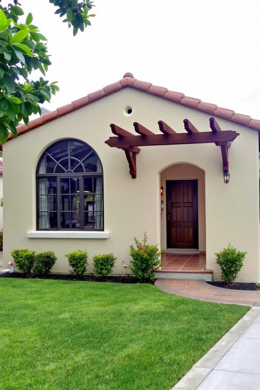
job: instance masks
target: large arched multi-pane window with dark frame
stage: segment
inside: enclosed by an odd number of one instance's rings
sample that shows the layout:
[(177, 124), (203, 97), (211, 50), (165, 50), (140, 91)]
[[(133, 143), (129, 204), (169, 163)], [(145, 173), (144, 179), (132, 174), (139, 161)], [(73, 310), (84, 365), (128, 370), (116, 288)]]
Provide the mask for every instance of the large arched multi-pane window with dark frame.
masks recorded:
[(36, 180), (38, 230), (104, 230), (103, 169), (90, 146), (55, 142), (42, 154)]

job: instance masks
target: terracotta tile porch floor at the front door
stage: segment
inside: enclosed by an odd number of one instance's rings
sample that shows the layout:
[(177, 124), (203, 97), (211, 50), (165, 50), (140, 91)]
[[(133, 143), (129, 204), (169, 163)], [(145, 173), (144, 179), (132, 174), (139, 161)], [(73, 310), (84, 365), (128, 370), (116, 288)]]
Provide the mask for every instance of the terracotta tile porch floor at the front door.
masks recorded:
[(163, 262), (159, 272), (193, 272), (206, 273), (206, 255), (205, 254), (173, 254), (163, 253), (161, 255)]

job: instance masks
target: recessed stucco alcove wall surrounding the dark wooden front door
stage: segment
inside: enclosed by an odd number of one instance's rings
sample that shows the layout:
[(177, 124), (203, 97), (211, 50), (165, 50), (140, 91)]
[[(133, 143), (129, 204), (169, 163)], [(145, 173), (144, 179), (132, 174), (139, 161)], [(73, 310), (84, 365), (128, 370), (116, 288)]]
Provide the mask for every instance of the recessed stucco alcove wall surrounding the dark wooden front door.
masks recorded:
[(199, 250), (206, 250), (206, 222), (205, 222), (205, 174), (195, 165), (175, 164), (161, 172), (161, 186), (163, 186), (163, 212), (161, 214), (161, 248), (167, 248), (166, 243), (166, 180), (198, 180), (198, 236)]

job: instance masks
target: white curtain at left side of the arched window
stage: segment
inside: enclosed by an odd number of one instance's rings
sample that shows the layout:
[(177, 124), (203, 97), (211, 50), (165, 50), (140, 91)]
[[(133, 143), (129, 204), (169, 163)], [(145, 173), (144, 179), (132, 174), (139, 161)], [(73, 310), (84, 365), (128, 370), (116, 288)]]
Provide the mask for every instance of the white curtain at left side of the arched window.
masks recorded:
[[(43, 158), (39, 173), (46, 173), (47, 158)], [(50, 229), (50, 222), (48, 218), (48, 179), (39, 179), (39, 229)], [(42, 195), (42, 196), (41, 196)]]

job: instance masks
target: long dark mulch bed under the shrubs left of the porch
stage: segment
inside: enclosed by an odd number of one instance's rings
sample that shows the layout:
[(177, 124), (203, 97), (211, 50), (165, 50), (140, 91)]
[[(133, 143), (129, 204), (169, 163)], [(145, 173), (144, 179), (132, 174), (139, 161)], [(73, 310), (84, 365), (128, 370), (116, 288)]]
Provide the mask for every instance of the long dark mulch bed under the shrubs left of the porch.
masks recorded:
[[(0, 278), (53, 279), (53, 280), (71, 280), (71, 281), (78, 281), (78, 282), (109, 282), (109, 283), (131, 283), (131, 284), (142, 283), (138, 279), (132, 277), (131, 275), (108, 276), (106, 278), (100, 278), (95, 275), (84, 275), (84, 277), (80, 279), (80, 278), (76, 278), (75, 275), (71, 275), (71, 274), (51, 273), (47, 277), (41, 277), (39, 275), (26, 276), (21, 272), (14, 272), (14, 273), (0, 274)], [(143, 283), (154, 284), (155, 281), (156, 279), (143, 282)]]

